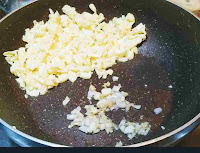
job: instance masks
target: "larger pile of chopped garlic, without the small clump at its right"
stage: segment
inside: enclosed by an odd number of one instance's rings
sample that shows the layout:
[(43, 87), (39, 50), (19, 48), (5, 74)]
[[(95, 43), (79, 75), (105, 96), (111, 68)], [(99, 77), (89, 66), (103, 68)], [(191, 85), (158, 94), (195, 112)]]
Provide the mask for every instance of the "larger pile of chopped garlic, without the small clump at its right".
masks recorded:
[[(120, 88), (121, 85), (119, 84), (112, 89), (105, 87), (101, 92), (97, 92), (96, 88), (93, 85), (90, 85), (87, 97), (89, 100), (94, 98), (98, 102), (96, 106), (85, 106), (86, 116), (80, 112), (80, 107), (77, 107), (71, 114), (68, 114), (67, 119), (72, 121), (69, 128), (79, 126), (79, 130), (82, 132), (92, 134), (102, 130), (105, 130), (107, 133), (113, 132), (114, 129), (118, 130), (118, 127), (105, 115), (105, 112), (114, 109), (125, 109), (126, 111), (129, 111), (130, 107), (134, 107), (134, 104), (125, 100), (128, 93), (123, 91), (120, 92)], [(136, 108), (138, 108), (138, 105), (136, 105)]]

